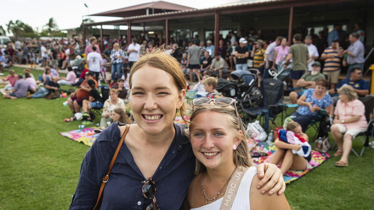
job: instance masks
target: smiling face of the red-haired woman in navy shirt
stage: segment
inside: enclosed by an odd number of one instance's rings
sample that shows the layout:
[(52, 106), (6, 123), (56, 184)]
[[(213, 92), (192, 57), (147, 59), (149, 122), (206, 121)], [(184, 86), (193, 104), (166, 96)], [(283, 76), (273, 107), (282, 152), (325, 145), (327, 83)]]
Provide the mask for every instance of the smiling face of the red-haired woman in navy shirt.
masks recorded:
[(132, 76), (130, 105), (135, 122), (148, 134), (173, 128), (175, 112), (181, 108), (185, 90), (178, 91), (166, 71), (144, 65)]

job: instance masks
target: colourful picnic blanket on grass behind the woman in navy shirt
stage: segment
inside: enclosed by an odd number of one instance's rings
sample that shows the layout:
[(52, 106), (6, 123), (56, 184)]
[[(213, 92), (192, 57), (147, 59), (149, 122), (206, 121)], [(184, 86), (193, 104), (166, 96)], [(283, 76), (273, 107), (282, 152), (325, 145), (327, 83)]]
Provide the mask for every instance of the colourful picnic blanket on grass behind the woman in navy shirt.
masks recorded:
[[(186, 118), (186, 120), (189, 120), (187, 116), (184, 117)], [(174, 123), (179, 124), (181, 126), (186, 126), (181, 117), (176, 117)], [(72, 130), (68, 132), (61, 132), (60, 135), (72, 139), (76, 142), (82, 142), (85, 145), (91, 146), (92, 143), (95, 141), (96, 137), (99, 135), (98, 133), (93, 132), (93, 129), (95, 128), (96, 127), (89, 127), (78, 130)]]

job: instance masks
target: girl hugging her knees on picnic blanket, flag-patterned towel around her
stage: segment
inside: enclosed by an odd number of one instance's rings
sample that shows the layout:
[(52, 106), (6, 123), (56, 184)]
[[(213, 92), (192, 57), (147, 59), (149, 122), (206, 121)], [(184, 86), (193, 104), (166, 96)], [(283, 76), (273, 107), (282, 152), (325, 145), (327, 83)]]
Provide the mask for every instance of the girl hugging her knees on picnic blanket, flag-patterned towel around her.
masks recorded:
[[(287, 131), (294, 132), (295, 136), (303, 138), (306, 142), (309, 141), (308, 135), (303, 133), (300, 124), (295, 121), (291, 121), (287, 124)], [(274, 145), (278, 147), (277, 151), (272, 155), (270, 163), (281, 165), (281, 172), (284, 175), (288, 169), (292, 170), (305, 170), (309, 166), (309, 161), (312, 159), (312, 155), (309, 152), (307, 157), (303, 157), (299, 154), (294, 154), (293, 151), (300, 151), (300, 144), (286, 143), (279, 138), (274, 141)]]

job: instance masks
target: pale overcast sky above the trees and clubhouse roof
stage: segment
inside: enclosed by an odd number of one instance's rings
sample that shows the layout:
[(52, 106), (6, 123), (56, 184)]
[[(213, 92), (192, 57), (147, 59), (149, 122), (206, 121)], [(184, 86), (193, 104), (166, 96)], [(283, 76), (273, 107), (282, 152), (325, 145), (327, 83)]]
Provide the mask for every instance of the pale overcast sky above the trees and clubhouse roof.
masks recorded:
[[(177, 0), (164, 1), (203, 9), (238, 0), (186, 0), (183, 3)], [(149, 2), (152, 0), (2, 0), (0, 25), (7, 30), (6, 24), (10, 20), (13, 22), (20, 20), (33, 27), (34, 30), (38, 28), (40, 31), (49, 18), (53, 17), (60, 29), (76, 28), (82, 23), (82, 16), (88, 14), (84, 3), (88, 5), (89, 13), (95, 14)], [(120, 19), (101, 16), (90, 16), (90, 18), (95, 22)]]

